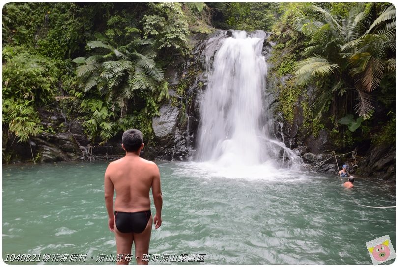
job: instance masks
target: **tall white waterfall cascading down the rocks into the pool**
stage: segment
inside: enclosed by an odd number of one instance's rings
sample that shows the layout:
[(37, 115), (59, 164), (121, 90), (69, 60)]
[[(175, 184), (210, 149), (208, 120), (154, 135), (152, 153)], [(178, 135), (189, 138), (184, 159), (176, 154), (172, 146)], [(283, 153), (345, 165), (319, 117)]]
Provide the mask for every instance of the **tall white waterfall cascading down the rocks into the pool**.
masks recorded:
[(222, 39), (212, 66), (206, 64), (209, 81), (200, 104), (198, 161), (222, 167), (278, 167), (277, 159), (299, 158), (270, 138), (270, 123), (264, 122), (272, 116), (263, 101), (267, 76), (263, 42), (245, 31), (233, 31), (232, 37)]

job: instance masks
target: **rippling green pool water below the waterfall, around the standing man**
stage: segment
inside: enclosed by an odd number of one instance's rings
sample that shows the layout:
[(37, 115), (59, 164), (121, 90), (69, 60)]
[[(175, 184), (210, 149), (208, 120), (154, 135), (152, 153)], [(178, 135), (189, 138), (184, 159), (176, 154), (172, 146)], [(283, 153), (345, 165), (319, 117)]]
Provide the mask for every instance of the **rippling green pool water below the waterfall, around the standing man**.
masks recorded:
[[(107, 164), (78, 166), (3, 167), (10, 174), (3, 175), (3, 256), (116, 253), (98, 179)], [(395, 240), (395, 209), (353, 201), (392, 206), (395, 193), (364, 179), (345, 190), (328, 175), (278, 170), (232, 179), (202, 167), (160, 165), (163, 223), (153, 228), (150, 253), (204, 253), (205, 264), (371, 264), (365, 242)]]

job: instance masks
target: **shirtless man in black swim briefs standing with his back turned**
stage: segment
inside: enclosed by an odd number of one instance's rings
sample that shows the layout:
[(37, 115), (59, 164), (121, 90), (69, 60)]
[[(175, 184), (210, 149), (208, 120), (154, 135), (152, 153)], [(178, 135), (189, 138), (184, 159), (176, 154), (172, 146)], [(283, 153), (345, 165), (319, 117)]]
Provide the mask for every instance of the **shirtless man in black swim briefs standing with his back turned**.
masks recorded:
[[(137, 264), (148, 254), (152, 221), (155, 229), (162, 224), (162, 191), (158, 166), (152, 161), (141, 158), (144, 147), (142, 133), (130, 129), (123, 133), (122, 148), (126, 155), (109, 164), (105, 172), (105, 206), (108, 212), (109, 229), (115, 233), (117, 254), (123, 254), (123, 260), (117, 264), (129, 264), (131, 247), (135, 244)], [(156, 215), (152, 218), (149, 190), (152, 188)], [(113, 207), (114, 190), (116, 200)]]

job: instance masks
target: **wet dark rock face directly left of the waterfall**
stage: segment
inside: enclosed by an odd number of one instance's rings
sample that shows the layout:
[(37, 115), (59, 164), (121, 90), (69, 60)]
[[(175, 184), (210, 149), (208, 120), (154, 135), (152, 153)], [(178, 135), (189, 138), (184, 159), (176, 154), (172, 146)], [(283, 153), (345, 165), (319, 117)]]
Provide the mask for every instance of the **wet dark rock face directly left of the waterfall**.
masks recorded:
[(228, 37), (227, 30), (218, 30), (210, 37), (194, 35), (191, 39), (195, 44), (193, 57), (166, 71), (169, 84), (176, 90), (169, 91), (173, 101), (162, 106), (160, 116), (152, 119), (155, 140), (146, 156), (166, 160), (186, 160), (195, 156), (200, 101), (208, 84), (206, 70), (221, 40)]

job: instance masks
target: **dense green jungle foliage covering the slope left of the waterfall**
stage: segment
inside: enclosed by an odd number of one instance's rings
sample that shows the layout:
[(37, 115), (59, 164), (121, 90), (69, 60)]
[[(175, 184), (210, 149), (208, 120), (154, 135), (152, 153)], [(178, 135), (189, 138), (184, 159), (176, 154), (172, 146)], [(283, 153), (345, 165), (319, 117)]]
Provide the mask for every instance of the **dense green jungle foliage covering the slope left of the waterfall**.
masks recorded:
[(80, 103), (75, 113), (93, 142), (127, 127), (150, 138), (150, 120), (168, 98), (164, 66), (189, 54), (184, 10), (179, 3), (5, 4), (3, 142), (39, 134), (37, 110), (54, 108), (57, 96)]

